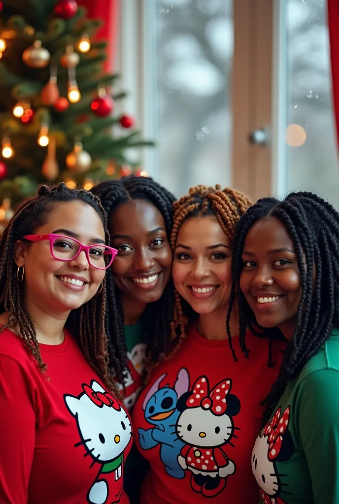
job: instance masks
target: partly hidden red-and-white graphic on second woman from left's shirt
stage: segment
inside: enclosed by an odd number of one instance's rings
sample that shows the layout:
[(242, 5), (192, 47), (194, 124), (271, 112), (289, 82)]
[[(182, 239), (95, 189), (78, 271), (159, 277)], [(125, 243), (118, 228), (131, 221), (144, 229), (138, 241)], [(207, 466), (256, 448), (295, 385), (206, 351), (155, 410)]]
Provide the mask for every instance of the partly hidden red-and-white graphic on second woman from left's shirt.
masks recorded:
[[(134, 406), (142, 390), (142, 373), (146, 363), (146, 345), (138, 343), (127, 352), (127, 369), (124, 372), (125, 399), (127, 410)], [(123, 385), (117, 382), (118, 389), (123, 391)]]

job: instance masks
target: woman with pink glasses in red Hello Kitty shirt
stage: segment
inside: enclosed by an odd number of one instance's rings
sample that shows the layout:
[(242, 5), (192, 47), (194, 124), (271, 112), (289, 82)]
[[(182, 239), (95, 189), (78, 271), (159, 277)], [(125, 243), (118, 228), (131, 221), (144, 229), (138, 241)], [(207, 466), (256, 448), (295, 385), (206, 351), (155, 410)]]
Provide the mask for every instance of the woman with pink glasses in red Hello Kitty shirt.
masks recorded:
[(130, 418), (108, 371), (105, 212), (41, 186), (0, 240), (0, 502), (128, 503)]

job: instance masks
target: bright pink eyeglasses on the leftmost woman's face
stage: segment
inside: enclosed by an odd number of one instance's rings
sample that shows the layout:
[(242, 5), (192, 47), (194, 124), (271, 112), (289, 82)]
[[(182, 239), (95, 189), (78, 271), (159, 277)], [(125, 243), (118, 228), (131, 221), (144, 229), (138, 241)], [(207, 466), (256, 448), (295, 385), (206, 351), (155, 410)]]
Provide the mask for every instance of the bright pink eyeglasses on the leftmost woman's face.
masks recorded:
[(50, 253), (59, 261), (72, 261), (85, 250), (87, 261), (97, 270), (106, 270), (112, 264), (118, 254), (116, 248), (98, 243), (95, 245), (83, 245), (80, 241), (63, 236), (61, 234), (26, 234), (25, 240), (42, 241), (49, 240)]

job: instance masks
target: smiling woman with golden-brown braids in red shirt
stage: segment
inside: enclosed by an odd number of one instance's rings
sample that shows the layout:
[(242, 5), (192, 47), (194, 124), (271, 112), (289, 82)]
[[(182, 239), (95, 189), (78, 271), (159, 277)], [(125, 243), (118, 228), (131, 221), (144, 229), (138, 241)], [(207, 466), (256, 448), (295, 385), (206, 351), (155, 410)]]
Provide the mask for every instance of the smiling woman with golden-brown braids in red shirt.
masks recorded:
[(246, 195), (219, 186), (192, 187), (174, 204), (176, 311), (187, 313), (189, 325), (174, 321), (180, 338), (133, 412), (137, 446), (151, 466), (142, 504), (257, 500), (251, 450), (282, 345), (248, 333), (247, 358), (238, 348), (237, 313), (230, 338), (226, 331), (235, 230), (250, 205)]

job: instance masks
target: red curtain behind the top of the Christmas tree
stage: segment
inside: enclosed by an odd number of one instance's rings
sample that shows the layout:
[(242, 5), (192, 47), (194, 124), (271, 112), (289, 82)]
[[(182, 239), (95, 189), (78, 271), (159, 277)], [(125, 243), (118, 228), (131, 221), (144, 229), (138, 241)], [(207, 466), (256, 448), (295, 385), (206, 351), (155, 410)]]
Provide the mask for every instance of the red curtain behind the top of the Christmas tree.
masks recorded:
[(78, 5), (86, 7), (90, 19), (100, 18), (104, 20), (104, 24), (97, 31), (95, 38), (107, 41), (105, 70), (112, 72), (115, 66), (117, 47), (119, 0), (78, 0)]

